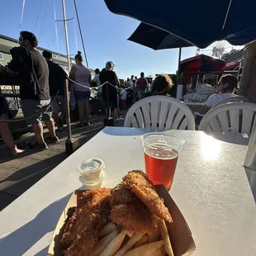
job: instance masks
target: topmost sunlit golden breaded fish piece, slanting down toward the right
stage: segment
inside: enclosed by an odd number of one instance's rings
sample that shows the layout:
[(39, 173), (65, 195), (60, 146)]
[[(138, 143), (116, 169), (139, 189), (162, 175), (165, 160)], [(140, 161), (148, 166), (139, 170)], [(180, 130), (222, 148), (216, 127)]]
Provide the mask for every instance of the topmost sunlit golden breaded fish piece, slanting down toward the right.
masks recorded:
[(149, 211), (159, 218), (172, 222), (172, 216), (168, 212), (168, 208), (164, 206), (164, 201), (159, 197), (153, 183), (147, 175), (141, 171), (132, 171), (123, 178), (122, 184), (135, 193), (141, 201), (148, 206)]

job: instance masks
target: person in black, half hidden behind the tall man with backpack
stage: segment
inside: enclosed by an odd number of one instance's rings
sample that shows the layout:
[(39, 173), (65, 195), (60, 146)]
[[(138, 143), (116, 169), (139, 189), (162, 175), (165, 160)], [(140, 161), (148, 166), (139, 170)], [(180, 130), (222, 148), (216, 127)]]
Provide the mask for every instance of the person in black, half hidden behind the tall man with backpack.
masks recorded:
[(64, 86), (66, 83), (67, 74), (58, 64), (52, 62), (52, 54), (49, 50), (44, 50), (43, 56), (45, 57), (49, 68), (49, 88), (52, 101), (50, 104), (51, 111), (58, 130), (63, 130), (63, 123), (59, 122), (59, 112), (61, 112), (61, 117), (65, 121), (66, 109), (64, 100)]

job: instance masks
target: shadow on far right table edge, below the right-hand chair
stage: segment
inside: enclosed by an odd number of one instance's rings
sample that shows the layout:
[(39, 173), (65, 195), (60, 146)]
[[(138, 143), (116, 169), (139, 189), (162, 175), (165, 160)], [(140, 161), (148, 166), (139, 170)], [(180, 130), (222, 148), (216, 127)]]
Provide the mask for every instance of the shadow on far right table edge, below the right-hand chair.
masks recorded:
[(204, 132), (206, 135), (211, 135), (211, 137), (216, 140), (222, 140), (228, 143), (237, 144), (237, 145), (248, 145), (249, 137), (248, 135), (242, 135), (239, 133), (231, 133), (231, 132)]

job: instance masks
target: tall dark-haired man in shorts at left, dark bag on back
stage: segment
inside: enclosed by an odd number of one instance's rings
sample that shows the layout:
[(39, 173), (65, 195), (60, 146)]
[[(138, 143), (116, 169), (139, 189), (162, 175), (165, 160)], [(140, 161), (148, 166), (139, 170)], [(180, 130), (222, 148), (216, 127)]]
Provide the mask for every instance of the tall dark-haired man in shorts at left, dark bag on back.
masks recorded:
[(20, 82), (21, 108), (27, 121), (36, 135), (36, 144), (30, 149), (47, 149), (44, 140), (41, 119), (45, 121), (50, 132), (49, 140), (57, 142), (55, 125), (45, 106), (50, 104), (49, 69), (45, 58), (36, 50), (38, 45), (36, 36), (28, 31), (21, 31), (19, 44), (11, 50), (12, 60), (7, 64), (8, 73), (17, 73)]

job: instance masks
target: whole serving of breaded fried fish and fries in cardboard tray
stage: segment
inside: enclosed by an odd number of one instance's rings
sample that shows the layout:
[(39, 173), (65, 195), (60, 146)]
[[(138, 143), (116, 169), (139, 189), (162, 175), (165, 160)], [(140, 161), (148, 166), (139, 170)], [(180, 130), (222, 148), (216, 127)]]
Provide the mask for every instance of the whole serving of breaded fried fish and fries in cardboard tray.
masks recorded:
[(168, 208), (141, 171), (113, 189), (83, 192), (64, 226), (64, 256), (164, 256), (173, 254), (165, 221)]

